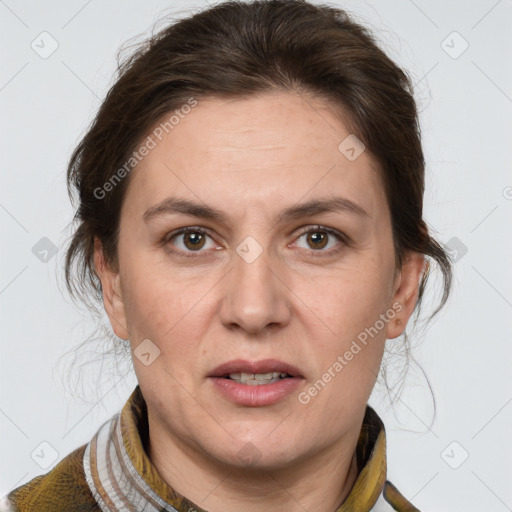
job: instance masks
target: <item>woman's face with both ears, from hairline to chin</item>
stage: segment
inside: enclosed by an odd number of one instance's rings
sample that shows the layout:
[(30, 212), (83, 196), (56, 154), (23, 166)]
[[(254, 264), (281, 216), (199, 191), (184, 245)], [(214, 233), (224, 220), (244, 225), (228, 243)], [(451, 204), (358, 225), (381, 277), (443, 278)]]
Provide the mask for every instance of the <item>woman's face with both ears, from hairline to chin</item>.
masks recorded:
[(201, 100), (156, 142), (102, 273), (152, 439), (267, 469), (354, 443), (422, 270), (395, 268), (376, 161), (285, 92)]

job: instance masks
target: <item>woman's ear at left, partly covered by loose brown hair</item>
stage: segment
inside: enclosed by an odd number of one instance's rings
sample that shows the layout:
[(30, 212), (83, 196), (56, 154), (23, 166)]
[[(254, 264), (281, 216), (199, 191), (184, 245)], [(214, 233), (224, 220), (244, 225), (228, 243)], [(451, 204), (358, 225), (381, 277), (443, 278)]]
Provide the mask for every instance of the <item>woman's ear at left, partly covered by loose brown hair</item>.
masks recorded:
[(110, 325), (119, 338), (127, 340), (129, 336), (119, 272), (114, 272), (105, 262), (103, 246), (97, 237), (94, 237), (94, 267), (101, 281), (103, 305)]

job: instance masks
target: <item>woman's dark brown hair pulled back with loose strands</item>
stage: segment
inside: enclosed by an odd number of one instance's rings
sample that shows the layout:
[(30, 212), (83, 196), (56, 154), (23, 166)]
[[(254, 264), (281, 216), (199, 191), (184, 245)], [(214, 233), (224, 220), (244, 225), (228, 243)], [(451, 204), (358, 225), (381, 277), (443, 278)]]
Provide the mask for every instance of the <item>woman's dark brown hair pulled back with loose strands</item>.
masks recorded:
[[(130, 175), (98, 190), (130, 160), (164, 114), (206, 97), (247, 97), (271, 90), (308, 92), (343, 114), (382, 168), (396, 262), (407, 251), (435, 261), (448, 298), (451, 262), (422, 217), (425, 162), (412, 85), (367, 29), (341, 9), (304, 0), (228, 1), (170, 24), (129, 58), (76, 147), (68, 192), (79, 196), (78, 222), (66, 253), (72, 296), (101, 299), (94, 238), (117, 268), (120, 211)], [(96, 191), (96, 192), (95, 192)], [(427, 260), (429, 260), (427, 258)], [(73, 264), (77, 272), (73, 272)], [(417, 310), (429, 272), (420, 284)], [(417, 311), (417, 313), (418, 313)]]

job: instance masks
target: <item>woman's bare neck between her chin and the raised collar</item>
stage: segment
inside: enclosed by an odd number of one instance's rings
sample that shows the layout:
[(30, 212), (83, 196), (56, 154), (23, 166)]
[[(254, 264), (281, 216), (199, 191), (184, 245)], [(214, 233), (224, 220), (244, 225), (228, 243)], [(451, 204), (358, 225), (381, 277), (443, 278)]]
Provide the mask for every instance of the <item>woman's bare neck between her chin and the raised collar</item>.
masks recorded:
[(247, 470), (214, 461), (151, 426), (148, 454), (163, 480), (209, 512), (259, 512), (262, 499), (266, 512), (335, 512), (359, 473), (358, 435), (285, 468)]

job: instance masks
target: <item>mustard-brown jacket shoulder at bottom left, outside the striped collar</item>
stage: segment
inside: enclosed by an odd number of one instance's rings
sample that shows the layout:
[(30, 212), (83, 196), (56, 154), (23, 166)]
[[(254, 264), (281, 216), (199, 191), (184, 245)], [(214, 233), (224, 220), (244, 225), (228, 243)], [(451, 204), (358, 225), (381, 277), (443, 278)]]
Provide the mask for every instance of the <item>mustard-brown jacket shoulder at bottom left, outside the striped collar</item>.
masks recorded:
[(83, 470), (83, 445), (64, 457), (49, 473), (14, 489), (0, 512), (100, 512)]

